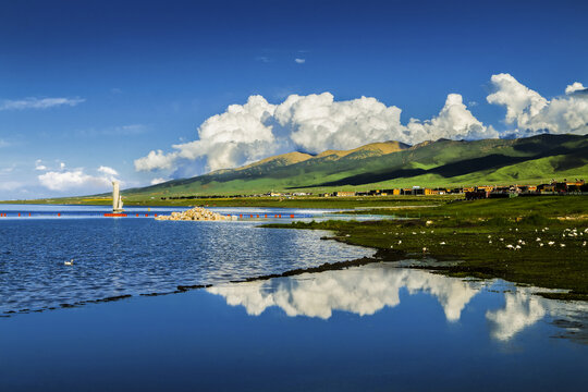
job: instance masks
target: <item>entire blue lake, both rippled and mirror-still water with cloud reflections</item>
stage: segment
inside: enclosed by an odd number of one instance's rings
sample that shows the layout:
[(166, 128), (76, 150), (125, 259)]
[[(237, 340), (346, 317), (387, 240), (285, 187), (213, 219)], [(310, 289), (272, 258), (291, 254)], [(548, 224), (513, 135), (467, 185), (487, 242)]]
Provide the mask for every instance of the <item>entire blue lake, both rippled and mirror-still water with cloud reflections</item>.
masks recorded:
[[(0, 221), (1, 391), (583, 390), (588, 306), (255, 222)], [(63, 259), (74, 257), (74, 266)], [(70, 268), (68, 268), (70, 267)], [(157, 296), (180, 284), (207, 289)], [(9, 286), (10, 289), (7, 289)], [(84, 298), (132, 294), (61, 308)], [(54, 310), (48, 308), (57, 307)]]

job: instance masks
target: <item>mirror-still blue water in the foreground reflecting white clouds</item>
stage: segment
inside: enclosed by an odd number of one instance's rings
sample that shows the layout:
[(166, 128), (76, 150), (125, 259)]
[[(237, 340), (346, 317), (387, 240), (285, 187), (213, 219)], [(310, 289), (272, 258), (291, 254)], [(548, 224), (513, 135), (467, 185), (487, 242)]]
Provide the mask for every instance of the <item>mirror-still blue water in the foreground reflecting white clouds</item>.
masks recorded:
[(532, 293), (376, 264), (17, 315), (0, 390), (585, 390), (587, 305)]

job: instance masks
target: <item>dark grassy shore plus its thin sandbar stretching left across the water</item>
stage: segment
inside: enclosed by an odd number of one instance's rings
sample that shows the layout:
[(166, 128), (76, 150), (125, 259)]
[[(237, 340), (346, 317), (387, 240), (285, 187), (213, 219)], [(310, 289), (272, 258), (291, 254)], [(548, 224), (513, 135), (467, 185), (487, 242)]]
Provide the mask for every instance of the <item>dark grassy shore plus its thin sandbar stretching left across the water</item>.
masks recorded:
[[(544, 293), (541, 295), (554, 299), (588, 301), (588, 264), (585, 262), (588, 248), (580, 245), (583, 240), (588, 240), (588, 232), (584, 232), (584, 228), (588, 225), (588, 222), (583, 219), (563, 222), (555, 219), (562, 212), (581, 212), (585, 210), (584, 206), (588, 198), (576, 197), (569, 200), (575, 200), (576, 204), (572, 206), (568, 204), (563, 206), (561, 204), (554, 205), (553, 203), (538, 205), (538, 201), (543, 203), (543, 200), (529, 200), (531, 204), (527, 205), (527, 210), (520, 210), (520, 203), (528, 204), (527, 200), (464, 201), (436, 206), (434, 208), (424, 206), (425, 208), (419, 211), (419, 213), (422, 213), (422, 218), (415, 218), (409, 221), (370, 220), (358, 222), (334, 220), (313, 221), (309, 223), (262, 223), (256, 225), (256, 228), (327, 230), (333, 234), (321, 240), (333, 240), (347, 245), (363, 246), (373, 249), (376, 253), (371, 257), (323, 264), (305, 269), (298, 268), (282, 273), (249, 277), (229, 282), (240, 283), (284, 278), (306, 272), (338, 270), (381, 261), (414, 260), (414, 262), (399, 265), (399, 267), (426, 269), (433, 273), (442, 273), (454, 278), (499, 278), (516, 284), (566, 290), (567, 293)], [(550, 200), (546, 199), (546, 201)], [(415, 206), (411, 207), (414, 208)], [(505, 218), (505, 215), (512, 213), (513, 210), (516, 210), (520, 217), (516, 217), (516, 219), (512, 217)], [(473, 211), (476, 215), (473, 215)], [(546, 215), (538, 216), (540, 212)], [(543, 229), (541, 228), (544, 225), (549, 225), (551, 232), (542, 232)], [(561, 231), (563, 230), (565, 234), (566, 230), (571, 230), (572, 226), (580, 228), (579, 234), (581, 234), (581, 237), (577, 236), (577, 240), (565, 237), (565, 240), (562, 240)], [(558, 231), (560, 232), (559, 240), (553, 236)], [(555, 246), (548, 246), (548, 233), (553, 240), (558, 241)], [(492, 237), (494, 244), (489, 245), (492, 241), (488, 241), (487, 236), (488, 238)], [(505, 241), (499, 243), (499, 236), (504, 236)], [(536, 236), (543, 238), (542, 241), (546, 242), (544, 247), (537, 246), (538, 243), (534, 241)], [(507, 243), (516, 244), (515, 238), (520, 237), (524, 237), (528, 244), (524, 245), (519, 252), (504, 249), (504, 245)], [(502, 241), (502, 238), (500, 240)], [(402, 245), (400, 245), (399, 241)], [(446, 245), (445, 241), (448, 242)], [(560, 248), (558, 246), (560, 242), (567, 242), (567, 247), (562, 246)], [(440, 244), (443, 244), (443, 246)], [(562, 249), (565, 249), (565, 252)], [(419, 259), (425, 262), (419, 262)], [(60, 304), (40, 309), (8, 310), (0, 314), (0, 317), (120, 301), (132, 296), (168, 295), (210, 286), (211, 284), (177, 285), (175, 290), (162, 293), (124, 294), (72, 304)]]

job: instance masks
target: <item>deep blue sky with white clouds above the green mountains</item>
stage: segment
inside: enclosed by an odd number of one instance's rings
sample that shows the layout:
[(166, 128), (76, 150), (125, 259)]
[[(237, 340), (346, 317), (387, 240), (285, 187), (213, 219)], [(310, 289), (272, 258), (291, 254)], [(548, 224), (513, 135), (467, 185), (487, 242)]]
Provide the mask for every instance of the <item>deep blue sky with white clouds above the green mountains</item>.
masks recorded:
[[(537, 121), (505, 121), (506, 110), (535, 99), (519, 86), (551, 100), (575, 82), (588, 84), (587, 14), (583, 1), (4, 2), (0, 198), (105, 191), (105, 179), (113, 175), (137, 186), (293, 149), (348, 147), (343, 139), (394, 136), (411, 118), (424, 124), (420, 136), (405, 132), (408, 142), (418, 142), (437, 135), (429, 127), (446, 124), (440, 111), (453, 110), (450, 100), (463, 101), (474, 118), (453, 114), (452, 130), (455, 115), (468, 117), (473, 126), (455, 131), (456, 137), (538, 132)], [(514, 82), (491, 82), (499, 74)], [(523, 91), (520, 101), (488, 102), (497, 89), (511, 87)], [(240, 130), (241, 136), (225, 135), (242, 137), (237, 142), (219, 138), (218, 130), (226, 126), (222, 118), (210, 124), (210, 143), (172, 147), (199, 140), (197, 130), (207, 119), (245, 105), (249, 96), (278, 106), (292, 94), (323, 93), (335, 103), (352, 102), (354, 119), (369, 120), (380, 110), (368, 102), (376, 109), (362, 114), (353, 100), (363, 96), (397, 107), (401, 124), (354, 138), (348, 121), (317, 128), (307, 112), (289, 107), (287, 119), (262, 120), (259, 126), (273, 122), (270, 135), (250, 136), (267, 131), (254, 124)], [(309, 106), (331, 114), (347, 110), (322, 98)], [(267, 109), (264, 102), (255, 107)], [(581, 108), (569, 102), (566, 110), (583, 117)], [(394, 115), (382, 121), (393, 122)], [(552, 131), (549, 124), (543, 131)], [(586, 133), (566, 126), (554, 124), (552, 132)], [(313, 145), (320, 132), (329, 137), (321, 134)], [(163, 163), (137, 170), (137, 159), (160, 149)]]

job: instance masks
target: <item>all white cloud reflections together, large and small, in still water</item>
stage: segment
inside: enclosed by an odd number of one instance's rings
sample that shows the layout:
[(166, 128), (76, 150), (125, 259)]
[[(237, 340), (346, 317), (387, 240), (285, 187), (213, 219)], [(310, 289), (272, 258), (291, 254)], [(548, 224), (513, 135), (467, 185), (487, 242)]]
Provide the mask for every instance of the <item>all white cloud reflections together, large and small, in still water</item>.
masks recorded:
[[(495, 290), (499, 286), (501, 290)], [(430, 294), (442, 306), (449, 322), (458, 321), (462, 313), (478, 294), (502, 299), (488, 309), (490, 335), (509, 341), (520, 331), (549, 318), (566, 329), (566, 336), (585, 331), (588, 305), (547, 299), (535, 295), (537, 289), (516, 287), (502, 281), (475, 281), (448, 278), (424, 270), (395, 268), (391, 264), (369, 265), (348, 270), (304, 273), (294, 278), (219, 285), (207, 289), (221, 295), (232, 306), (243, 306), (250, 316), (269, 307), (279, 307), (287, 316), (329, 319), (333, 311), (359, 316), (373, 315), (401, 303), (401, 291), (409, 295)], [(492, 302), (490, 302), (492, 303)], [(563, 322), (565, 321), (565, 322)]]

